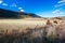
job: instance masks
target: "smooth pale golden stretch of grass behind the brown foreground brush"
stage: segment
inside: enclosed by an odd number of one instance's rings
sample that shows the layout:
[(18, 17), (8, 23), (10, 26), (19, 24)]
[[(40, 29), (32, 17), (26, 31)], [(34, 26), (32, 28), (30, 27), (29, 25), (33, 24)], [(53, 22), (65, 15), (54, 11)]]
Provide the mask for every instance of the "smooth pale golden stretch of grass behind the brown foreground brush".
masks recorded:
[(0, 27), (9, 29), (9, 27), (15, 29), (35, 28), (37, 26), (42, 27), (46, 25), (46, 19), (0, 19)]

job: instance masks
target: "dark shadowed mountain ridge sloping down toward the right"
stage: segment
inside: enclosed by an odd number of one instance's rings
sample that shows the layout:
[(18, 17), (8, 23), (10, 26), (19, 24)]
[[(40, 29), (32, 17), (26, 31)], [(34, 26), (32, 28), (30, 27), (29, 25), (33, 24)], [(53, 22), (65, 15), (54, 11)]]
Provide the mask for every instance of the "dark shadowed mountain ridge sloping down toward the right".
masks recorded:
[(0, 18), (24, 18), (24, 17), (40, 17), (32, 13), (15, 12), (0, 9)]

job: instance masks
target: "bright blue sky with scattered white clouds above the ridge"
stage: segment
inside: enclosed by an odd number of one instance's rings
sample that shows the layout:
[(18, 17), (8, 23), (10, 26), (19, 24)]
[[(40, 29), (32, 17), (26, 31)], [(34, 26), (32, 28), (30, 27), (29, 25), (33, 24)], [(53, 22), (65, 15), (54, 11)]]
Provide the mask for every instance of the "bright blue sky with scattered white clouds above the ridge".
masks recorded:
[(65, 16), (65, 0), (0, 0), (0, 8), (42, 17)]

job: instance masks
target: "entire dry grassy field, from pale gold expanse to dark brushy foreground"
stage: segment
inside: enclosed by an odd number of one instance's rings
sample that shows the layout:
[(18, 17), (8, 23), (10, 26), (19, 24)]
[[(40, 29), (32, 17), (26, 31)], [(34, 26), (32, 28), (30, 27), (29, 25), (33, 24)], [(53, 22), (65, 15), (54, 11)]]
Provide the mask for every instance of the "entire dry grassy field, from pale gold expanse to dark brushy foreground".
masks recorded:
[(65, 43), (65, 20), (0, 19), (0, 43)]

